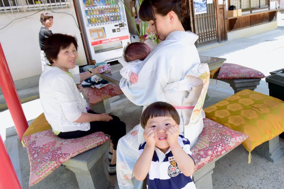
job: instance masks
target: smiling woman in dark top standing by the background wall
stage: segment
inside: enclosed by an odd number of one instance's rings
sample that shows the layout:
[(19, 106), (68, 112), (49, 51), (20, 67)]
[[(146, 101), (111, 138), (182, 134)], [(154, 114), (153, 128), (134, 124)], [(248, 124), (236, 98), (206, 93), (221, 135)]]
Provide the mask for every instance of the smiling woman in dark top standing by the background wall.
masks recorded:
[(45, 57), (43, 46), (44, 46), (45, 39), (48, 38), (52, 34), (52, 31), (49, 30), (49, 28), (53, 25), (53, 16), (47, 12), (41, 13), (39, 21), (42, 23), (42, 26), (40, 27), (40, 30), (39, 30), (38, 37), (39, 37), (39, 47), (41, 50), (40, 51), (41, 67), (43, 71), (44, 66), (49, 64), (48, 60)]

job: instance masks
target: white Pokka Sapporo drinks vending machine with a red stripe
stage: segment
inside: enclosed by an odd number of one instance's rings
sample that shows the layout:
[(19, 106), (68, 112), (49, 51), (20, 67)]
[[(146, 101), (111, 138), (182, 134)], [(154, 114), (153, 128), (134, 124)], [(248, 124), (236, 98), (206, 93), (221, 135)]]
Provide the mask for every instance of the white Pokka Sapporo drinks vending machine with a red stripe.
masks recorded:
[[(118, 60), (130, 43), (126, 12), (121, 0), (76, 0), (91, 60)], [(79, 8), (78, 8), (79, 9)]]

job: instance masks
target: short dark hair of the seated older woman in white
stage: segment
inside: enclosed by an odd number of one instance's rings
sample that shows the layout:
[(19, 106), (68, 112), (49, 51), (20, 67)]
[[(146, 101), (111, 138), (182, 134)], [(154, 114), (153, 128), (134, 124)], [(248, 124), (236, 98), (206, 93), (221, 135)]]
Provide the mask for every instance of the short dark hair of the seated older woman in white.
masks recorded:
[(56, 60), (58, 53), (62, 49), (68, 48), (71, 44), (74, 44), (76, 50), (78, 48), (77, 39), (72, 35), (55, 33), (50, 35), (44, 42), (43, 51), (49, 63), (53, 63), (52, 60)]

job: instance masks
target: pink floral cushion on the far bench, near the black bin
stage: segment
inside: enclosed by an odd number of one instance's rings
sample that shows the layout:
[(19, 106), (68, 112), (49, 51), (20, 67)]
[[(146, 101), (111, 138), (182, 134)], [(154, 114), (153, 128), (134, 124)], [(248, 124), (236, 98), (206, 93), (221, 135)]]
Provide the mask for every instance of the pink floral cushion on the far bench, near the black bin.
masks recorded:
[(220, 68), (217, 79), (248, 79), (248, 78), (265, 78), (264, 74), (258, 70), (248, 68), (245, 66), (224, 63)]

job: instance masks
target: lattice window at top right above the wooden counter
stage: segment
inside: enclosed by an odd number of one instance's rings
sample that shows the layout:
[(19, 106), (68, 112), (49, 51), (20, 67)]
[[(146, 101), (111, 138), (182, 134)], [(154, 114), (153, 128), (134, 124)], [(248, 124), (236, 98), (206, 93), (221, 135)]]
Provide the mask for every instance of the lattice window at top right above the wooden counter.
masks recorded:
[(229, 5), (235, 5), (237, 9), (254, 9), (268, 7), (267, 0), (229, 0)]

